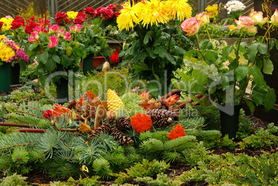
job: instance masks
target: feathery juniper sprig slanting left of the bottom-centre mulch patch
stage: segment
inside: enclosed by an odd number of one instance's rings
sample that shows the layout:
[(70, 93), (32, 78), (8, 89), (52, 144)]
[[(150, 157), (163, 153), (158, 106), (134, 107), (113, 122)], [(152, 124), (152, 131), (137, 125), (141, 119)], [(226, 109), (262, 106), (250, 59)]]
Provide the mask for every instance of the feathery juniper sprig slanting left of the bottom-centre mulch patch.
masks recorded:
[(129, 179), (160, 174), (168, 168), (169, 164), (163, 161), (154, 160), (149, 162), (148, 160), (143, 159), (141, 163), (136, 163), (133, 167), (125, 169), (127, 173), (120, 172), (119, 174), (113, 174), (113, 176), (118, 177), (115, 180), (115, 183), (122, 184)]

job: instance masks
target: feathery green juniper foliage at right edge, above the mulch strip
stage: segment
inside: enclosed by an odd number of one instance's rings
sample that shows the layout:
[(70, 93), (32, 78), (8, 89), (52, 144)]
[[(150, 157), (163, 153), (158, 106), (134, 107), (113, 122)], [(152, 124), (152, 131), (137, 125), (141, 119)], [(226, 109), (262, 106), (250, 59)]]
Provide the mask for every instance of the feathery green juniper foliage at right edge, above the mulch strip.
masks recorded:
[(244, 149), (245, 147), (272, 148), (272, 145), (278, 145), (277, 136), (272, 134), (276, 133), (277, 129), (278, 127), (274, 126), (273, 123), (269, 124), (268, 129), (266, 130), (260, 128), (257, 131), (255, 131), (254, 134), (252, 134), (251, 136), (243, 138), (243, 141), (239, 142), (239, 147), (241, 147), (242, 149)]

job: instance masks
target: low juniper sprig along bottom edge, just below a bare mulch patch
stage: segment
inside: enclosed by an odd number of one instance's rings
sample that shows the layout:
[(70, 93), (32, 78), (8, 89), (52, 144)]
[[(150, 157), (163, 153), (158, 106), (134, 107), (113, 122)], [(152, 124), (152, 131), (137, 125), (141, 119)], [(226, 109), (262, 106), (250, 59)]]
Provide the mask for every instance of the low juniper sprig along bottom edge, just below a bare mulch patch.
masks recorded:
[(176, 179), (176, 178), (167, 178), (167, 174), (160, 173), (157, 175), (156, 180), (153, 178), (146, 176), (142, 178), (136, 178), (134, 179), (136, 181), (147, 183), (148, 185), (154, 185), (154, 186), (180, 186), (183, 184), (182, 181)]

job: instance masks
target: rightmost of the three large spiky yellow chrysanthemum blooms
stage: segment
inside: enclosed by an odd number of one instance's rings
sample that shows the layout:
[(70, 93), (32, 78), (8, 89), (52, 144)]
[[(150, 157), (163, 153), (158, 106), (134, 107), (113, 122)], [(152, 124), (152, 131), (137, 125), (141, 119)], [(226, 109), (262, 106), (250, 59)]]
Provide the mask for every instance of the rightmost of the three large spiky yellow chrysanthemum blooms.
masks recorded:
[(177, 19), (184, 20), (192, 16), (192, 8), (187, 0), (168, 0), (164, 2), (171, 19), (177, 17)]

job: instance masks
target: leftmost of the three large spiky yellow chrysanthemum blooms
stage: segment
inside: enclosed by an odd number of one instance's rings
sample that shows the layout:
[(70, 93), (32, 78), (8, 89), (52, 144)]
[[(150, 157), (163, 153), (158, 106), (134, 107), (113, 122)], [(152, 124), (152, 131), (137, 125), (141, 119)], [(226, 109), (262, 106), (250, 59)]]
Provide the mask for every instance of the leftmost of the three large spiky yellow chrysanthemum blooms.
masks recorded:
[(117, 18), (117, 24), (119, 30), (133, 30), (134, 24), (138, 23), (138, 18), (136, 17), (136, 12), (134, 12), (134, 6), (131, 7), (131, 3), (125, 2), (123, 9), (120, 10), (120, 15)]

